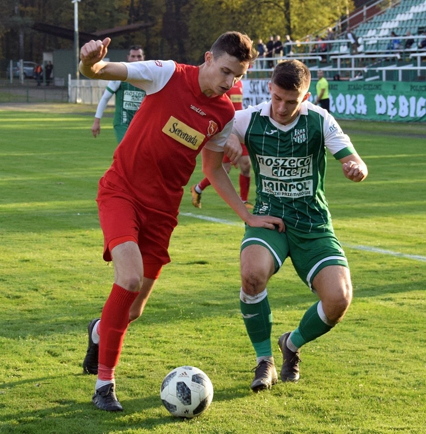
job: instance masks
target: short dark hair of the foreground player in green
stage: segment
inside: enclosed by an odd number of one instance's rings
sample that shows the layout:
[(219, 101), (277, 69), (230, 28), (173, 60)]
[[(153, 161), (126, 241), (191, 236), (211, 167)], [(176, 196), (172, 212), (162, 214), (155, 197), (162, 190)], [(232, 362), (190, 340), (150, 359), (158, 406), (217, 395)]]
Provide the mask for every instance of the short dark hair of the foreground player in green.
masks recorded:
[(309, 89), (310, 71), (302, 62), (291, 59), (278, 63), (272, 72), (270, 82), (286, 91)]

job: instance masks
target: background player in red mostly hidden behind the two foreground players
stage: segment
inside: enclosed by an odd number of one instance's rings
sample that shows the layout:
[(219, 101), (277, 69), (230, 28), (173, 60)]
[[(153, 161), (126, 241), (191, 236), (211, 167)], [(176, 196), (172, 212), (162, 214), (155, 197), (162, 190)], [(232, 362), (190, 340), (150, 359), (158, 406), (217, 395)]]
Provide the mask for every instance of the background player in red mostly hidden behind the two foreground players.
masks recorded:
[[(227, 92), (226, 95), (231, 100), (235, 110), (242, 110), (242, 82), (236, 82)], [(247, 148), (241, 143), (242, 155), (238, 159), (236, 165), (239, 167), (239, 197), (244, 202), (247, 209), (253, 209), (253, 204), (248, 201), (248, 191), (250, 189), (250, 157), (248, 156)], [(229, 158), (224, 155), (222, 161), (223, 167), (227, 173), (231, 169)], [(195, 208), (201, 208), (201, 193), (210, 185), (207, 177), (203, 178), (198, 184), (191, 186), (192, 205)]]

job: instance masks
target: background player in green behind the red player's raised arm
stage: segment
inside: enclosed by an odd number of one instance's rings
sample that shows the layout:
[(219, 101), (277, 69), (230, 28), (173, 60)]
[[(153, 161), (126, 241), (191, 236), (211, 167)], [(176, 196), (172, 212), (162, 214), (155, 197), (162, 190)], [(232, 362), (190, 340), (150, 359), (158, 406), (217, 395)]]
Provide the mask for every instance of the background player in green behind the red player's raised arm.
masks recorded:
[[(139, 62), (144, 59), (145, 57), (141, 47), (137, 45), (130, 47), (127, 62)], [(136, 110), (139, 108), (145, 96), (145, 91), (137, 89), (126, 82), (120, 82), (118, 80), (109, 81), (94, 115), (93, 125), (91, 126), (93, 137), (96, 137), (100, 133), (100, 119), (102, 118), (103, 111), (106, 109), (108, 101), (114, 94), (115, 112), (113, 126), (117, 143), (120, 143), (127, 131), (130, 121), (133, 119)]]

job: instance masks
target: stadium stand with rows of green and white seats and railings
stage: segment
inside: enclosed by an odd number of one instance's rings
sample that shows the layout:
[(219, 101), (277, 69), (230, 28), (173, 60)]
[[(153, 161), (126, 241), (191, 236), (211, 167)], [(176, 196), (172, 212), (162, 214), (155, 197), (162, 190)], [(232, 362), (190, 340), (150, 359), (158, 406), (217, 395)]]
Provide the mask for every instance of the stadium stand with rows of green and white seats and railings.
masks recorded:
[[(334, 28), (340, 29), (340, 33), (333, 41), (324, 40), (324, 29), (318, 32), (323, 38), (321, 43), (327, 45), (326, 52), (315, 51), (318, 41), (306, 38), (292, 42), (290, 53), (282, 59), (296, 58), (312, 71), (322, 69), (327, 79), (338, 75), (340, 80), (350, 81), (426, 80), (426, 47), (418, 47), (426, 38), (426, 0), (393, 1), (386, 8), (381, 1), (371, 2)], [(357, 37), (356, 46), (347, 39), (349, 29)], [(406, 36), (408, 31), (411, 36)], [(399, 40), (399, 46), (392, 46), (394, 39)], [(407, 39), (414, 40), (410, 48), (405, 48)], [(262, 77), (270, 71), (255, 65), (250, 75)]]

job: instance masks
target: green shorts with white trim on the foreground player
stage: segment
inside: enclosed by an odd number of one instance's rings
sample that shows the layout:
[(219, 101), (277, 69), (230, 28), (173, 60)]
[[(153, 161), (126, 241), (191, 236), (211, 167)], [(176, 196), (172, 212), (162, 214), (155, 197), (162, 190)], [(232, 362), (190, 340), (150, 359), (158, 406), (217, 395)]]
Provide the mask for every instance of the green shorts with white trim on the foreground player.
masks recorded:
[(343, 249), (332, 231), (306, 234), (286, 227), (285, 232), (279, 233), (276, 229), (245, 225), (241, 251), (251, 244), (258, 244), (269, 250), (275, 263), (275, 273), (289, 256), (300, 279), (311, 290), (312, 280), (322, 268), (328, 265), (343, 265), (349, 268)]

